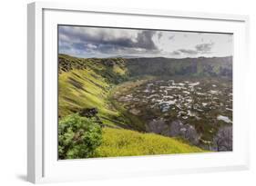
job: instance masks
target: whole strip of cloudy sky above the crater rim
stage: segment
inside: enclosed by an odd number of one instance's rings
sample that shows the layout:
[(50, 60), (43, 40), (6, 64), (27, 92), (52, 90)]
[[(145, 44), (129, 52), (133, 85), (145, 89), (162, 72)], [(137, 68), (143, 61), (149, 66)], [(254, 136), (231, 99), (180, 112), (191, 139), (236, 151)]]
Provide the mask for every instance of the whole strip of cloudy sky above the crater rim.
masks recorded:
[(59, 54), (85, 58), (229, 56), (232, 45), (232, 34), (58, 26)]

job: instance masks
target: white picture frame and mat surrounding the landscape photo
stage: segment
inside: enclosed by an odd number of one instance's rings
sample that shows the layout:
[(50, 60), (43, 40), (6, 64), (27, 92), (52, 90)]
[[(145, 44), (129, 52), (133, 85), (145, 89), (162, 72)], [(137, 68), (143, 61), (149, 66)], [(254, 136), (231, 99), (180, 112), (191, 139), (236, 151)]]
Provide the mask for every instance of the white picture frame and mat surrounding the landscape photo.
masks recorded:
[[(175, 30), (234, 34), (233, 152), (57, 161), (56, 25), (90, 24), (169, 29), (167, 23), (171, 23)], [(243, 84), (247, 78), (246, 67), (249, 65), (248, 26), (249, 17), (246, 15), (88, 7), (86, 4), (67, 3), (29, 4), (27, 8), (27, 180), (34, 183), (83, 181), (249, 169), (249, 121), (245, 117), (248, 103), (242, 102), (241, 99), (247, 96), (243, 91)], [(241, 61), (243, 63), (239, 63)]]

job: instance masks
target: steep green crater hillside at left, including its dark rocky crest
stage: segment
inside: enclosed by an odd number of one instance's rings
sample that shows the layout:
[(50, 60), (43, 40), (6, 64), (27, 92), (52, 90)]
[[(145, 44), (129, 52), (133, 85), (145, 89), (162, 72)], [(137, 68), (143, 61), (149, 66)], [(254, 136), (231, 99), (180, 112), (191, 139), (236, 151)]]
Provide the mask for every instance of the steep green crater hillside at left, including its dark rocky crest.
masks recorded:
[[(126, 79), (121, 64), (102, 64), (97, 60), (59, 55), (58, 117), (81, 109), (97, 108), (98, 116), (108, 126), (123, 125), (126, 120), (108, 101), (109, 90)], [(118, 125), (117, 125), (118, 124)]]

